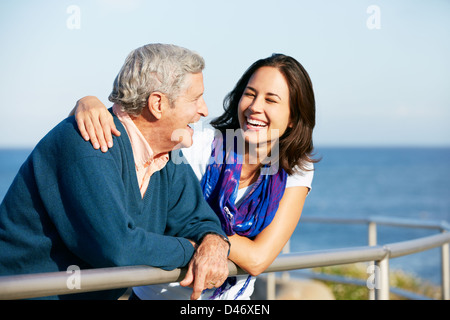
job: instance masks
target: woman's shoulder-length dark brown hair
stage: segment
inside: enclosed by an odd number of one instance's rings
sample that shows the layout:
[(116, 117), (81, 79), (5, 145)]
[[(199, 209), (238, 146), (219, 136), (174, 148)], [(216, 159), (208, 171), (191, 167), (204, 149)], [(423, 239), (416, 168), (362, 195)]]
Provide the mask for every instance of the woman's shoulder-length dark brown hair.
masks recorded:
[(312, 158), (312, 134), (316, 123), (316, 104), (314, 91), (308, 73), (294, 58), (273, 54), (253, 63), (239, 79), (234, 89), (225, 97), (223, 107), (225, 112), (213, 119), (211, 125), (222, 133), (226, 129), (240, 128), (238, 105), (251, 76), (261, 67), (277, 68), (285, 77), (289, 87), (289, 107), (292, 128), (287, 128), (280, 137), (280, 166), (287, 174), (294, 173), (295, 166), (300, 170), (308, 170), (308, 163), (318, 160)]

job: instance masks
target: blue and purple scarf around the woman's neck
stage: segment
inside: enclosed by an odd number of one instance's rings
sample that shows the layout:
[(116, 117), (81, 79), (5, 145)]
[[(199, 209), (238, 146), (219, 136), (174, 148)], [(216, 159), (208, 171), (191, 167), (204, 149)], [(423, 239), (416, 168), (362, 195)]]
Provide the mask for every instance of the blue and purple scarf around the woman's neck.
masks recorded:
[[(236, 147), (227, 148), (225, 140), (216, 137), (213, 141), (210, 164), (201, 180), (203, 196), (219, 217), (227, 235), (254, 238), (272, 222), (286, 188), (287, 174), (282, 168), (273, 174), (260, 174), (240, 205), (236, 206), (243, 158), (236, 152)], [(230, 281), (216, 289), (213, 297), (226, 290), (227, 285), (233, 285), (233, 279), (228, 279)], [(249, 280), (250, 276), (243, 289)]]

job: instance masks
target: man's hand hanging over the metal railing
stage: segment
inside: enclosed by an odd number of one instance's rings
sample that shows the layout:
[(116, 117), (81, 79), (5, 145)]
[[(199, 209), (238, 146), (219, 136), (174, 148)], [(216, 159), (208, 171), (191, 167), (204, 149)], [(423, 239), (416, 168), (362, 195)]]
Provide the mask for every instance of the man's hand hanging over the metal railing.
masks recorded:
[(188, 271), (180, 284), (193, 287), (191, 300), (205, 289), (218, 288), (228, 277), (229, 244), (221, 236), (208, 234), (195, 251)]

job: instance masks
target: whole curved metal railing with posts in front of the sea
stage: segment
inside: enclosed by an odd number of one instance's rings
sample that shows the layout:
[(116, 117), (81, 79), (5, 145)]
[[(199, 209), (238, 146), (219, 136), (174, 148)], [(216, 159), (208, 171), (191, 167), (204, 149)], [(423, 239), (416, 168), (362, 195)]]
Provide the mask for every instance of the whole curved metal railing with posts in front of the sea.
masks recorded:
[[(304, 217), (302, 222), (365, 223), (369, 226), (369, 246), (283, 253), (267, 268), (265, 273), (374, 261), (378, 272), (374, 273), (376, 286), (373, 298), (389, 299), (389, 259), (441, 247), (442, 298), (450, 299), (450, 232), (447, 232), (450, 228), (446, 222), (434, 223), (378, 217), (358, 220)], [(431, 228), (438, 229), (441, 233), (380, 246), (376, 244), (377, 224)], [(231, 276), (245, 274), (244, 270), (231, 261), (229, 261), (228, 267)], [(72, 272), (1, 276), (0, 299), (26, 299), (177, 282), (184, 278), (185, 272), (185, 269), (165, 271), (149, 266), (81, 270), (80, 284), (76, 288), (68, 285), (68, 281), (73, 276)]]

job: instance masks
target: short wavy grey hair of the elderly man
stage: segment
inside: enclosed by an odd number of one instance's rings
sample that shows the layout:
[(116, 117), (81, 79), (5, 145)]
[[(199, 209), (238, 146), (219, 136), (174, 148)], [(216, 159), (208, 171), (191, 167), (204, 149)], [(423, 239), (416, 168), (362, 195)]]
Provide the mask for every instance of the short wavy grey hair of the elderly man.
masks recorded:
[(173, 101), (187, 87), (187, 74), (205, 68), (204, 59), (197, 53), (171, 44), (148, 44), (133, 50), (114, 80), (109, 101), (134, 116), (141, 114), (153, 92), (166, 95)]

